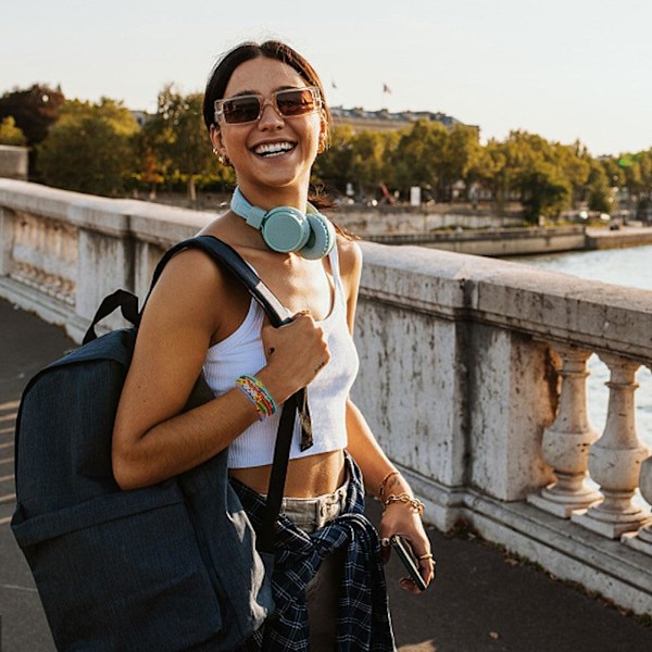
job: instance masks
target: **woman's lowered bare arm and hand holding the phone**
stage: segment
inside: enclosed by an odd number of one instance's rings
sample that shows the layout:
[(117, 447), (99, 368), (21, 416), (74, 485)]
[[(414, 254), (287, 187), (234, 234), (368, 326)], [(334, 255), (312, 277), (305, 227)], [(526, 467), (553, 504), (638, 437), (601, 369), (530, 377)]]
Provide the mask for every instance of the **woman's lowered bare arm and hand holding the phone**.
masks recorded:
[[(340, 247), (340, 258), (342, 280), (348, 292), (349, 329), (351, 330), (351, 335), (353, 335), (362, 271), (362, 253), (358, 244), (344, 241)], [(347, 436), (349, 441), (347, 450), (360, 466), (367, 491), (379, 498), (381, 493), (381, 498), (385, 500), (390, 494), (406, 493), (410, 497), (414, 497), (410, 485), (397, 472), (376, 441), (366, 419), (350, 399), (347, 401)], [(424, 530), (421, 515), (409, 503), (393, 502), (385, 506), (379, 534), (381, 539), (393, 535), (401, 535), (408, 539), (417, 557), (430, 554), (430, 542)], [(389, 556), (389, 549), (385, 548), (385, 551), (387, 559)], [(426, 584), (432, 580), (435, 574), (431, 559), (419, 561), (419, 573)], [(401, 587), (418, 593), (418, 589), (414, 582), (408, 578), (401, 580)]]

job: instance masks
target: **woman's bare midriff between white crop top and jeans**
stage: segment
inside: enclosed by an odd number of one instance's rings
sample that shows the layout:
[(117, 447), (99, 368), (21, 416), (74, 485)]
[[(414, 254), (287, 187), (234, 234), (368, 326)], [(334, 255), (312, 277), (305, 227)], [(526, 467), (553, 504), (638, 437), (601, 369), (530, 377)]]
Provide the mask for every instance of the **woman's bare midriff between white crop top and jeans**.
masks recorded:
[[(258, 493), (267, 493), (272, 465), (230, 468), (229, 474)], [(285, 492), (287, 498), (313, 498), (333, 493), (344, 481), (344, 453), (341, 450), (290, 460)]]

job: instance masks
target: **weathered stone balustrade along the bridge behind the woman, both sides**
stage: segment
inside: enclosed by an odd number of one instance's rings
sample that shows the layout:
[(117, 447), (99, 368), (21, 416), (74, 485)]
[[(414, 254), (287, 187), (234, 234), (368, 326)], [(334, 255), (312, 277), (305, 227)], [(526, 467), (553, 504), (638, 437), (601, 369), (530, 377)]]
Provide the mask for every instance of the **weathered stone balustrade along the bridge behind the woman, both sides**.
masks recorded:
[[(79, 341), (104, 294), (145, 297), (163, 250), (211, 218), (0, 180), (0, 296)], [(652, 365), (652, 292), (361, 246), (353, 398), (428, 521), (467, 523), (652, 614), (652, 457), (636, 428), (635, 381)], [(611, 374), (602, 434), (587, 416), (591, 353)]]

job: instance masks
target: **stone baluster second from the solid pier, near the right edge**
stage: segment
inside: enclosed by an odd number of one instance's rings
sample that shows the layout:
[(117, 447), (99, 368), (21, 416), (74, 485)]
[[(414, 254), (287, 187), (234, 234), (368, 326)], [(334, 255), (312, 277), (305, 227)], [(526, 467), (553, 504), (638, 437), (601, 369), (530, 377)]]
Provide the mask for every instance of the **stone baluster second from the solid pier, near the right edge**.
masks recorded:
[(640, 363), (613, 354), (600, 359), (609, 366), (611, 377), (606, 424), (602, 437), (589, 452), (591, 478), (600, 485), (604, 500), (570, 518), (587, 529), (611, 539), (637, 530), (648, 513), (631, 502), (639, 485), (641, 463), (648, 456), (636, 434), (634, 392), (635, 374)]

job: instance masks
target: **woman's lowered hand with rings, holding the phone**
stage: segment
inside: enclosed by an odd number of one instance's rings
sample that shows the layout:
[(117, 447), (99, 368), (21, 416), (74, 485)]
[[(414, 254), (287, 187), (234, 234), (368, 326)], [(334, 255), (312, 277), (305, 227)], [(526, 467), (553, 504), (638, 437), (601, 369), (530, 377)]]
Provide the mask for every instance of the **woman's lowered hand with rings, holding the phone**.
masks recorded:
[[(430, 541), (424, 529), (419, 514), (415, 509), (402, 502), (394, 502), (385, 509), (380, 527), (380, 543), (383, 544), (383, 561), (387, 563), (391, 552), (389, 540), (392, 536), (399, 535), (410, 543), (414, 556), (418, 563), (418, 570), (426, 586), (435, 578), (435, 560), (430, 549)], [(402, 577), (401, 588), (411, 593), (421, 593), (413, 579)]]

